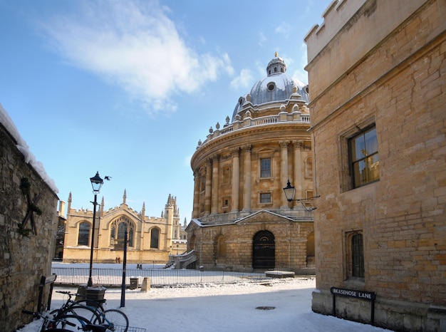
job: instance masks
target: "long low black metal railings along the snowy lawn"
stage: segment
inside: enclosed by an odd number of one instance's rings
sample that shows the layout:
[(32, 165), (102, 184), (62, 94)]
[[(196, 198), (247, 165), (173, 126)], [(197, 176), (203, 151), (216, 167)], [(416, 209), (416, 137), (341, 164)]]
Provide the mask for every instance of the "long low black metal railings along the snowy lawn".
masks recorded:
[[(81, 285), (87, 284), (88, 268), (55, 267), (52, 273), (57, 274), (56, 284)], [(235, 284), (241, 282), (259, 282), (271, 279), (264, 273), (247, 271), (200, 271), (194, 269), (126, 269), (125, 284), (130, 279), (138, 278), (138, 284), (145, 277), (150, 278), (150, 285), (180, 286), (192, 284)], [(93, 284), (103, 286), (120, 286), (123, 282), (122, 269), (94, 269)]]

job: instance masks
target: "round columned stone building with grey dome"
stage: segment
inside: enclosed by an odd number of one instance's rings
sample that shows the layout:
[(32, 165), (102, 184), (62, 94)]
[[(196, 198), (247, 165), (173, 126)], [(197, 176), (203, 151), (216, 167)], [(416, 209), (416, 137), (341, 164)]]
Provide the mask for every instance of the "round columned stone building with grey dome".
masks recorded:
[(308, 94), (276, 56), (223, 128), (198, 142), (187, 249), (208, 269), (314, 273), (313, 159)]

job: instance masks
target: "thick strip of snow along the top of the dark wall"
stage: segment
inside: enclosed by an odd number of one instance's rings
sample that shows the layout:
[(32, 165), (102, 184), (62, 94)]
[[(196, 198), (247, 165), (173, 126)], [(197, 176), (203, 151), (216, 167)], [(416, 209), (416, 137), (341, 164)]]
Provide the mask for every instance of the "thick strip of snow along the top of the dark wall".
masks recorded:
[(21, 137), (19, 130), (17, 130), (16, 125), (14, 125), (14, 122), (9, 117), (9, 114), (6, 112), (6, 110), (3, 108), (3, 105), (0, 103), (0, 123), (8, 130), (9, 134), (16, 140), (17, 142), (17, 149), (21, 152), (22, 155), (25, 157), (25, 162), (33, 167), (36, 172), (38, 172), (38, 175), (41, 176), (43, 181), (46, 182), (46, 184), (55, 192), (56, 194), (59, 192), (58, 188), (56, 187), (56, 183), (53, 179), (48, 177), (45, 171), (45, 167), (43, 167), (43, 164), (36, 160), (36, 157), (33, 155), (33, 153), (29, 150), (28, 145), (26, 144), (25, 140)]

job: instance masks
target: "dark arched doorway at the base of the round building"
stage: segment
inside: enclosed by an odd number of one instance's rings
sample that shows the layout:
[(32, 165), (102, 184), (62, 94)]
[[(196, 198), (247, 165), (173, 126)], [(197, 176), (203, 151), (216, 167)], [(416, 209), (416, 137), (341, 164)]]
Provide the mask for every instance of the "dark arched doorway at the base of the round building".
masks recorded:
[(276, 266), (276, 246), (274, 234), (260, 231), (254, 235), (252, 241), (252, 268), (274, 269)]

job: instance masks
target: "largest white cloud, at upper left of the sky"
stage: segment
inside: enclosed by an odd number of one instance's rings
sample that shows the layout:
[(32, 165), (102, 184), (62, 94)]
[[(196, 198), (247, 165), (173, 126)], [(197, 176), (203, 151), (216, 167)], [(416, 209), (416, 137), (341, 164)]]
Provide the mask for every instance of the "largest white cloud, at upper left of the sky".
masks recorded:
[(50, 42), (72, 66), (127, 91), (150, 112), (175, 110), (172, 94), (193, 93), (222, 73), (227, 54), (197, 54), (179, 35), (170, 9), (155, 1), (83, 1), (77, 14), (42, 24)]

